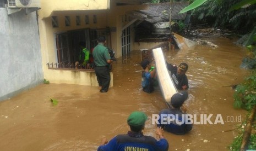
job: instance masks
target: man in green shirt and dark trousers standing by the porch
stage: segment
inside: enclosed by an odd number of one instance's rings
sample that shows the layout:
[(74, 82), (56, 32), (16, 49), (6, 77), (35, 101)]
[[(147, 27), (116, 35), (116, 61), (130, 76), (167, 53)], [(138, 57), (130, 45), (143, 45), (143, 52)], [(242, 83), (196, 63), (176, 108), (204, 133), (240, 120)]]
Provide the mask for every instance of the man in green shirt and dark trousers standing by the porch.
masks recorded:
[(107, 92), (110, 86), (110, 64), (113, 62), (111, 60), (108, 49), (105, 47), (106, 39), (105, 37), (98, 38), (98, 44), (92, 51), (92, 56), (94, 56), (95, 62), (95, 74), (97, 76), (97, 81), (100, 86), (100, 92)]

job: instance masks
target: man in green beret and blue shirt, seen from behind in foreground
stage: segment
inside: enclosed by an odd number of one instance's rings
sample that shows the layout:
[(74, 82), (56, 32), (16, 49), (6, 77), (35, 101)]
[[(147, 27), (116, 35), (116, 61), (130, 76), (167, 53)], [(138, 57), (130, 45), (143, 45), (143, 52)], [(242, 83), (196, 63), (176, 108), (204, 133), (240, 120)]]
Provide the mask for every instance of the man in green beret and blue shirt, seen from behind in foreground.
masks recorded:
[(112, 138), (110, 142), (108, 142), (106, 138), (103, 138), (97, 150), (168, 150), (169, 145), (164, 138), (162, 128), (157, 127), (156, 129), (156, 135), (160, 138), (159, 141), (154, 137), (143, 135), (142, 130), (145, 128), (145, 121), (147, 119), (148, 117), (145, 113), (138, 111), (133, 112), (127, 119), (130, 131), (128, 131), (127, 134), (117, 135)]

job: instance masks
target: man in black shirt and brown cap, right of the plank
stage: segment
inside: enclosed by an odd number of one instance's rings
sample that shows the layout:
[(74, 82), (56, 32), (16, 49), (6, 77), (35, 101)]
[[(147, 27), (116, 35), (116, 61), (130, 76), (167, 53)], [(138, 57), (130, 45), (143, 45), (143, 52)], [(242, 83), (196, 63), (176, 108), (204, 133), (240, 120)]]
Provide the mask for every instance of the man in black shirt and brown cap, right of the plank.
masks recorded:
[(188, 86), (188, 78), (186, 72), (188, 70), (188, 64), (182, 62), (178, 67), (176, 65), (172, 65), (166, 61), (166, 66), (169, 71), (171, 71), (171, 78), (173, 83), (175, 83), (175, 87), (178, 90), (187, 90)]

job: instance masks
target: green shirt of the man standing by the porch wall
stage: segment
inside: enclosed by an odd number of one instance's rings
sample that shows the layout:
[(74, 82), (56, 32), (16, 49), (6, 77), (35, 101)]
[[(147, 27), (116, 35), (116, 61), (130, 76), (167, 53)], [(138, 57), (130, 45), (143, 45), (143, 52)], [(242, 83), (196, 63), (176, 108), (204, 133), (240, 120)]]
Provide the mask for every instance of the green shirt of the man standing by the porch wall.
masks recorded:
[(108, 49), (102, 43), (96, 45), (92, 51), (92, 56), (94, 56), (94, 62), (96, 66), (107, 66), (107, 60), (110, 60)]

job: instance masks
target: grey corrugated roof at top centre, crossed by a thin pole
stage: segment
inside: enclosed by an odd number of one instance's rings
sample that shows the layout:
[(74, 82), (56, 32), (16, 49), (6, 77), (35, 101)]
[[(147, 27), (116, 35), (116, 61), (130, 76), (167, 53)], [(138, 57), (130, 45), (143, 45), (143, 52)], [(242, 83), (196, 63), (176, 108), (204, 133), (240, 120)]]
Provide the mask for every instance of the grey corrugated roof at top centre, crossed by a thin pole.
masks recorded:
[(169, 20), (170, 19), (170, 7), (172, 20), (184, 20), (186, 18), (186, 13), (178, 14), (183, 8), (189, 5), (189, 2), (173, 2), (171, 3), (157, 3), (157, 4), (147, 4), (149, 5), (149, 10), (154, 11), (155, 13), (162, 14), (162, 18)]

